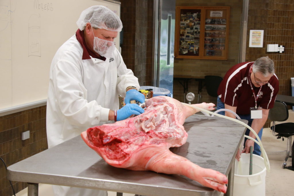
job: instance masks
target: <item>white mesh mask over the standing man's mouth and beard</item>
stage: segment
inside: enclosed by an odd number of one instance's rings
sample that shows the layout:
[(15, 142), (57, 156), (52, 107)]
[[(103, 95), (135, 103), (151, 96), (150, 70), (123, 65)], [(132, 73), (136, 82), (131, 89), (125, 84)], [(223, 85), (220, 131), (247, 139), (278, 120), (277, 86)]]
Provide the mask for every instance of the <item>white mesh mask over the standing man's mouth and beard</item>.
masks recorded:
[[(93, 29), (92, 29), (92, 32), (93, 32)], [(93, 32), (93, 35), (94, 35), (94, 32)], [(96, 53), (106, 58), (110, 58), (114, 49), (115, 49), (115, 43), (113, 41), (99, 39), (98, 37), (95, 37), (94, 35), (93, 50)]]

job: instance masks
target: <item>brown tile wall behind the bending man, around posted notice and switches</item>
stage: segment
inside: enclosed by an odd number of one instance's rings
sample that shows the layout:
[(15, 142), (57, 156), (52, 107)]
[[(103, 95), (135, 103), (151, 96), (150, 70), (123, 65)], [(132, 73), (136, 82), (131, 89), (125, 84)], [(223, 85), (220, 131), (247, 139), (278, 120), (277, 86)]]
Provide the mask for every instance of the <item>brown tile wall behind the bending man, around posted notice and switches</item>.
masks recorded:
[[(291, 77), (294, 77), (294, 1), (250, 0), (248, 8), (247, 46), (250, 29), (264, 30), (263, 48), (246, 48), (246, 61), (269, 56), (275, 63), (279, 78), (279, 94), (292, 95)], [(266, 52), (267, 44), (285, 46), (284, 53)], [(269, 120), (264, 127), (269, 127)]]

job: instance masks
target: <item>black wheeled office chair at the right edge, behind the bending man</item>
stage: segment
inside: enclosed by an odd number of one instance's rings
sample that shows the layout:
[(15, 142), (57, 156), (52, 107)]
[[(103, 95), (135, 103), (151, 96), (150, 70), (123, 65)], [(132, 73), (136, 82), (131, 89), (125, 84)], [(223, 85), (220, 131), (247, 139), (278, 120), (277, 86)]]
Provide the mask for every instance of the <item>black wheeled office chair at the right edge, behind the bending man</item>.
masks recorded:
[[(292, 149), (291, 149), (291, 145), (292, 145), (292, 135), (294, 135), (294, 123), (280, 123), (277, 125), (275, 124), (275, 121), (285, 121), (288, 119), (288, 117), (289, 117), (289, 113), (288, 113), (288, 108), (285, 102), (276, 100), (274, 107), (271, 108), (268, 113), (268, 119), (273, 121), (273, 126), (271, 126), (270, 129), (273, 130), (273, 135), (277, 136), (278, 139), (282, 138), (282, 140), (284, 141), (284, 138), (288, 138), (286, 158), (285, 158), (285, 162), (283, 163), (283, 168), (293, 170), (294, 143), (293, 143)], [(292, 166), (286, 167), (286, 161), (288, 160), (289, 157), (292, 157)]]

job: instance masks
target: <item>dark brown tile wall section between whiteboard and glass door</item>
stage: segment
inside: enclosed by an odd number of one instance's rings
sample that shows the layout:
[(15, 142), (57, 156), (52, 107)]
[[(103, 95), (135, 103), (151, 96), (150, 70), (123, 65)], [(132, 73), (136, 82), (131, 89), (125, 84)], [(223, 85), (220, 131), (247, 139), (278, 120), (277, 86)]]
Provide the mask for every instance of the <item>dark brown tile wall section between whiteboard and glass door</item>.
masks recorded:
[(121, 0), (121, 55), (141, 86), (151, 85), (153, 1)]

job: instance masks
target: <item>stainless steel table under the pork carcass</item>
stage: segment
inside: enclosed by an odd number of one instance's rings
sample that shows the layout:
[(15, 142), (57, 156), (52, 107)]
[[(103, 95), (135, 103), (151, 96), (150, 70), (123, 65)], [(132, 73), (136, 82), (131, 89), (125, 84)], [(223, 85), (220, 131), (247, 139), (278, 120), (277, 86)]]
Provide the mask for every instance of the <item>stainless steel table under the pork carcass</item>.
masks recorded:
[[(245, 127), (224, 118), (202, 115), (187, 118), (184, 127), (189, 135), (186, 144), (171, 151), (201, 167), (228, 175), (227, 195), (232, 195), (234, 157)], [(109, 190), (118, 195), (220, 195), (185, 176), (112, 167), (80, 136), (10, 165), (7, 170), (9, 180), (28, 182), (28, 195), (38, 195), (38, 183)]]

